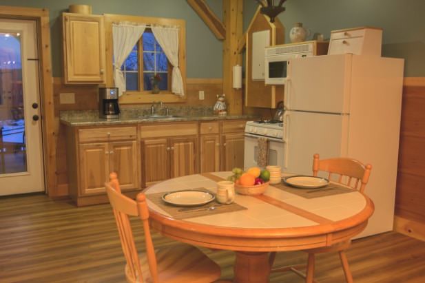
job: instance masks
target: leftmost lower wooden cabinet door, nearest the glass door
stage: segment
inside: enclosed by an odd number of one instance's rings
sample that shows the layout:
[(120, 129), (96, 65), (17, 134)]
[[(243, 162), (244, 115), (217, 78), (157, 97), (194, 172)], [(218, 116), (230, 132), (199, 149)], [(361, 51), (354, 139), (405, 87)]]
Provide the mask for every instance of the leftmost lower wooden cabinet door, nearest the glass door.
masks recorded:
[(109, 179), (109, 146), (107, 143), (80, 145), (80, 194), (104, 193)]

